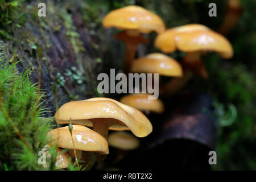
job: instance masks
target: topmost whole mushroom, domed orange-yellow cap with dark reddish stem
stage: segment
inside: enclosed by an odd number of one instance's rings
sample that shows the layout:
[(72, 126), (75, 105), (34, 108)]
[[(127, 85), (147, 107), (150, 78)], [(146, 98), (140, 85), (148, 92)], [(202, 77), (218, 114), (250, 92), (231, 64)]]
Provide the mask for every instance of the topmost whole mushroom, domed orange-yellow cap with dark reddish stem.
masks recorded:
[(138, 44), (147, 43), (147, 39), (140, 33), (148, 34), (155, 31), (159, 34), (165, 30), (163, 20), (158, 15), (140, 6), (126, 6), (113, 10), (105, 16), (102, 24), (105, 28), (115, 27), (124, 30), (115, 37), (125, 42), (125, 73), (130, 70)]

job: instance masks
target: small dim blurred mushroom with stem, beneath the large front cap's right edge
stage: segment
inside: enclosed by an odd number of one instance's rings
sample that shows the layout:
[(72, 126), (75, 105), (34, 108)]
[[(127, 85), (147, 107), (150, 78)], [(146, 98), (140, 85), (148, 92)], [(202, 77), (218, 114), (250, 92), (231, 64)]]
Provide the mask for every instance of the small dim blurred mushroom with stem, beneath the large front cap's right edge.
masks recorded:
[(113, 162), (118, 163), (124, 158), (127, 151), (137, 149), (140, 142), (138, 138), (126, 131), (114, 131), (109, 134), (108, 143), (109, 146), (118, 149), (118, 155)]

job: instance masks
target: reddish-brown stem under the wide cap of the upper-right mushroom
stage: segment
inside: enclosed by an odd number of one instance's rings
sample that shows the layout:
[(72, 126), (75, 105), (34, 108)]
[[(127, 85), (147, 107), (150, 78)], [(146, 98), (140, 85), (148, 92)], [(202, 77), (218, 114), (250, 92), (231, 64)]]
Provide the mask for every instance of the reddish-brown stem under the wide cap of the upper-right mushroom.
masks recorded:
[(203, 61), (201, 61), (200, 51), (187, 52), (183, 57), (181, 64), (183, 64), (185, 68), (192, 69), (192, 71), (195, 72), (196, 75), (202, 78), (206, 79), (208, 77), (208, 73), (207, 73), (207, 70), (205, 69), (205, 65)]

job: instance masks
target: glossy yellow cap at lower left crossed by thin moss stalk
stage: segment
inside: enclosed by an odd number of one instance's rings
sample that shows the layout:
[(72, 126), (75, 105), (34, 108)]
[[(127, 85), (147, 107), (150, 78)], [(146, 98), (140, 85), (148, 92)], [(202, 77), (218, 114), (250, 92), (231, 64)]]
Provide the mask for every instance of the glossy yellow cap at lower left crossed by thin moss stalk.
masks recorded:
[(73, 138), (76, 150), (109, 154), (109, 147), (106, 139), (96, 131), (88, 129), (88, 127), (85, 126), (73, 125), (72, 138), (68, 126), (53, 129), (49, 131), (48, 135), (53, 142), (57, 142), (57, 146), (61, 148), (73, 150)]

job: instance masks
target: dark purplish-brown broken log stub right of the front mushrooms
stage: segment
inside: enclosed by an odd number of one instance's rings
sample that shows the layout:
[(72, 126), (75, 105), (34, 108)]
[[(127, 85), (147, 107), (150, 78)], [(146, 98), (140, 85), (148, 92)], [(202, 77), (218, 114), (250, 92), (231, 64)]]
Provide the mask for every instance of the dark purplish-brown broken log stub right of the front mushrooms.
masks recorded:
[(160, 135), (151, 141), (150, 148), (171, 138), (195, 140), (214, 148), (216, 118), (212, 117), (213, 98), (205, 93), (185, 93), (175, 99), (177, 105), (169, 107), (170, 112), (163, 120)]

